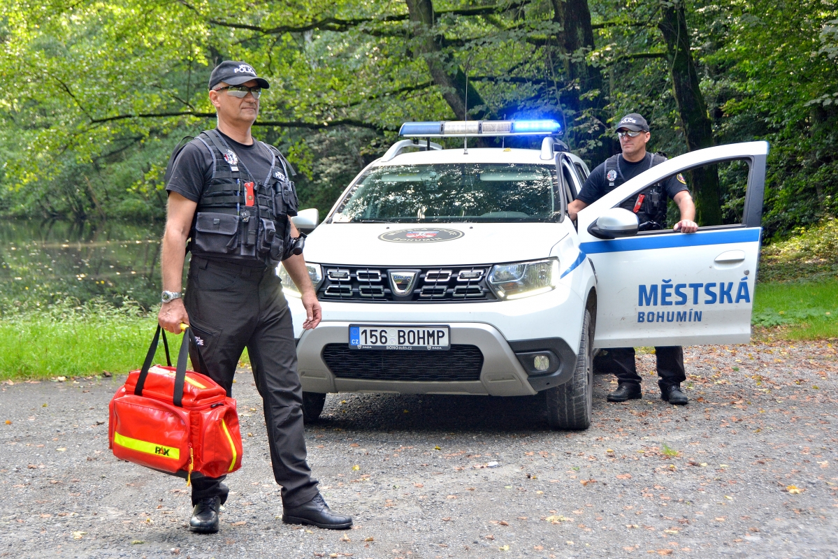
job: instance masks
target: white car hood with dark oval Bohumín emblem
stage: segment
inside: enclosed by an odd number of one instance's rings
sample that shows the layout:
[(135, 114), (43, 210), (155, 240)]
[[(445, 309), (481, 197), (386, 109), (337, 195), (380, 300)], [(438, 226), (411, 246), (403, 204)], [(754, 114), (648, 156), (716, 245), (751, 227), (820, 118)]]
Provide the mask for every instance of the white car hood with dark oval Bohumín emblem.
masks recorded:
[(320, 225), (306, 261), (347, 266), (468, 266), (537, 260), (566, 235), (564, 223)]

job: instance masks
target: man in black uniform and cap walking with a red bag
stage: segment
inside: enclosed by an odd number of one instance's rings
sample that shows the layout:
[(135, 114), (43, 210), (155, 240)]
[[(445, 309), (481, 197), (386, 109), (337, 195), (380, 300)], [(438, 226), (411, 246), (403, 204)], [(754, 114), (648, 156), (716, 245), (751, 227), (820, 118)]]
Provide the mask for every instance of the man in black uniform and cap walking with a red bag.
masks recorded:
[[(209, 77), (218, 127), (186, 144), (166, 185), (165, 291), (158, 321), (175, 334), (180, 323), (191, 326), (208, 369), (199, 372), (228, 396), (247, 348), (263, 401), (274, 478), (282, 485), (282, 521), (345, 529), (352, 519), (329, 510), (306, 461), (303, 391), (291, 312), (275, 273), (279, 261), (303, 295), (308, 317), (303, 329), (318, 325), (321, 308), (303, 255), (292, 254), (292, 237), (299, 234), (289, 219), (297, 215), (291, 165), (277, 148), (251, 136), (259, 96), (268, 87), (241, 62), (222, 62)], [(187, 250), (192, 259), (181, 298)], [(220, 505), (229, 492), (223, 479), (193, 478), (191, 530), (219, 530)]]

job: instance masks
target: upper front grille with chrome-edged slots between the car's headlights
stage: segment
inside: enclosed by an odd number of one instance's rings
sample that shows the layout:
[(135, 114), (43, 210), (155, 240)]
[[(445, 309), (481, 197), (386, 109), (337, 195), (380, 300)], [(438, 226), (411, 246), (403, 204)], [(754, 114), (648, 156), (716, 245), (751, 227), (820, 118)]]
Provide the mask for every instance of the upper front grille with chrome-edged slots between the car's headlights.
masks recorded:
[[(497, 301), (486, 284), (489, 267), (370, 268), (323, 264), (321, 301), (463, 303)], [(394, 292), (388, 272), (416, 272), (411, 292)], [(402, 286), (401, 290), (404, 290)]]

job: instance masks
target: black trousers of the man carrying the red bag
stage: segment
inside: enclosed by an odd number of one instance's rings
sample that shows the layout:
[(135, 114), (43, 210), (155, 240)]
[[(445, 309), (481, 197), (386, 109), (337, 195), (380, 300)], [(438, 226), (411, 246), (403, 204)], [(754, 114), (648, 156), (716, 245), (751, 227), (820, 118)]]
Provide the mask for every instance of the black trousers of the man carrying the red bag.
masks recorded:
[[(184, 305), (209, 368), (199, 372), (223, 386), (227, 396), (232, 396), (235, 367), (247, 348), (265, 411), (273, 476), (282, 485), (282, 505), (293, 507), (313, 499), (318, 482), (306, 462), (303, 387), (281, 285), (272, 267), (192, 256)], [(191, 357), (197, 364), (197, 356)], [(224, 503), (229, 491), (221, 483), (224, 478), (193, 478), (193, 505), (216, 495)]]

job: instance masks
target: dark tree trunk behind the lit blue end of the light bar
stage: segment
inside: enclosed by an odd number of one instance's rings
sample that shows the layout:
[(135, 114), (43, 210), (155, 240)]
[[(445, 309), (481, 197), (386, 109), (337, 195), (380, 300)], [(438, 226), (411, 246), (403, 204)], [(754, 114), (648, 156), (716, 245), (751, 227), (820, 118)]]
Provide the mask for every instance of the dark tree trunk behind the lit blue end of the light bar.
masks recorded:
[(551, 1), (553, 21), (561, 23), (564, 30), (561, 49), (565, 54), (567, 80), (571, 83), (566, 95), (571, 130), (566, 132), (574, 138), (574, 147), (596, 166), (609, 158), (616, 147), (613, 138), (608, 137), (608, 116), (603, 110), (603, 75), (585, 60), (585, 54), (594, 48), (591, 11), (587, 0)]

